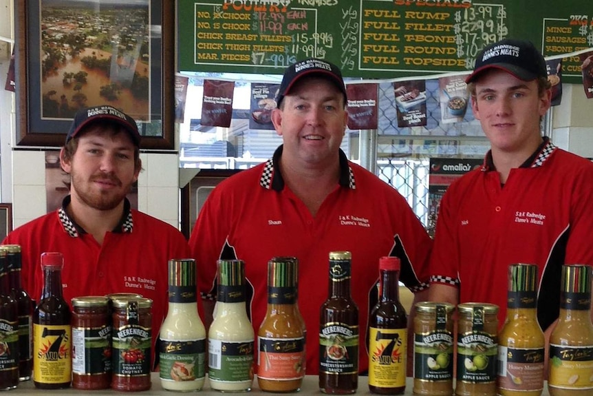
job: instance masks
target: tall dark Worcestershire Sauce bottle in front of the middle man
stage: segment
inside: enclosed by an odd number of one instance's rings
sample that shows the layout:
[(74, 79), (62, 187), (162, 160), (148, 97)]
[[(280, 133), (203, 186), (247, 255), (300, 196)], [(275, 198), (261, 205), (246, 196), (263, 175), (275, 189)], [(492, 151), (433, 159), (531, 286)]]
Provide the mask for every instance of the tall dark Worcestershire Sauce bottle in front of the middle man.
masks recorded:
[(321, 306), (319, 390), (349, 394), (358, 388), (358, 307), (350, 295), (352, 253), (330, 252), (329, 295)]

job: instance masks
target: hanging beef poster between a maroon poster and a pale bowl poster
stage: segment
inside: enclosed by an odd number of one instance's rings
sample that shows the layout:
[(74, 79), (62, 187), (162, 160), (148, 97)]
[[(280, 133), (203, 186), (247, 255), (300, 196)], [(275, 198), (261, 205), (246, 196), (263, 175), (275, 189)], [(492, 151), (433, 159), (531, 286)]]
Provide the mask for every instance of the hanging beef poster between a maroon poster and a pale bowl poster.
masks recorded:
[(399, 81), (393, 83), (398, 111), (398, 127), (427, 125), (426, 81)]

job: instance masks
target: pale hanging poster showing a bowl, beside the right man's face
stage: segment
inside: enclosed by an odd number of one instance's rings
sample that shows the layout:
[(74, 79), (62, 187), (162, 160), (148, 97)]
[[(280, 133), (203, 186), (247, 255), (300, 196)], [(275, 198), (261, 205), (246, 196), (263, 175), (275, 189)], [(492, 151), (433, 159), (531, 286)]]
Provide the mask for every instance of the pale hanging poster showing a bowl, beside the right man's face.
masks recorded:
[(441, 77), (439, 88), (442, 123), (460, 123), (465, 116), (468, 102), (464, 76)]

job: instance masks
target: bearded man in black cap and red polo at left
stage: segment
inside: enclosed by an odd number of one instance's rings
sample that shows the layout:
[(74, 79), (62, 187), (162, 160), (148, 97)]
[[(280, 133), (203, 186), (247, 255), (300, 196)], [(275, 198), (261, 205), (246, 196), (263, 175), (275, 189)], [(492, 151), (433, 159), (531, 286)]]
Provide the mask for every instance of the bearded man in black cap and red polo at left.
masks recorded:
[(62, 207), (15, 229), (3, 244), (20, 244), (23, 287), (43, 289), (41, 253), (63, 254), (63, 296), (139, 293), (153, 300), (155, 339), (168, 304), (167, 262), (188, 257), (175, 227), (130, 208), (126, 194), (142, 169), (136, 121), (111, 106), (80, 110), (60, 152), (70, 175)]

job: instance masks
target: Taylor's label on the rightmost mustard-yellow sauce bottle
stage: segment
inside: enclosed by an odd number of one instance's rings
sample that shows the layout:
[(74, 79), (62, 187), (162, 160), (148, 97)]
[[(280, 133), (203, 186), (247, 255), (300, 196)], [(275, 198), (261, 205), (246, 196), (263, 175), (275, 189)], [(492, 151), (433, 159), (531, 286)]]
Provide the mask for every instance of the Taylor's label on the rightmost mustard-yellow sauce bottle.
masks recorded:
[(551, 344), (548, 385), (562, 389), (593, 389), (593, 346)]

